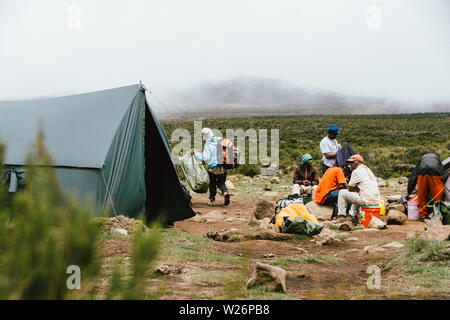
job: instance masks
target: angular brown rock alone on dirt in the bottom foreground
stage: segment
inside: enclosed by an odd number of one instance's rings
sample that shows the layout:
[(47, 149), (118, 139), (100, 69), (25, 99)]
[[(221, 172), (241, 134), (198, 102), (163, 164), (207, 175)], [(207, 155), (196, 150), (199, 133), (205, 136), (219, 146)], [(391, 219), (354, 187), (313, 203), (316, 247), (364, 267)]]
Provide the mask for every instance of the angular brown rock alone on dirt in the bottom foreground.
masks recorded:
[(286, 271), (268, 264), (256, 263), (255, 271), (246, 288), (265, 287), (271, 291), (286, 292)]

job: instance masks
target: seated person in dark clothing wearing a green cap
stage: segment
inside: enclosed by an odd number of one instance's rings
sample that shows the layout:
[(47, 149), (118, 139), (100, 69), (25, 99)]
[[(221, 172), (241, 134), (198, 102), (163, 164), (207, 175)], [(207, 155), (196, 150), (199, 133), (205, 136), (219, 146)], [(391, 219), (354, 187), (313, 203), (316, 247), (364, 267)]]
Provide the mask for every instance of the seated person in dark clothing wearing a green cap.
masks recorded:
[(304, 154), (300, 161), (301, 163), (294, 170), (292, 194), (313, 194), (319, 184), (319, 173), (312, 165), (310, 154)]

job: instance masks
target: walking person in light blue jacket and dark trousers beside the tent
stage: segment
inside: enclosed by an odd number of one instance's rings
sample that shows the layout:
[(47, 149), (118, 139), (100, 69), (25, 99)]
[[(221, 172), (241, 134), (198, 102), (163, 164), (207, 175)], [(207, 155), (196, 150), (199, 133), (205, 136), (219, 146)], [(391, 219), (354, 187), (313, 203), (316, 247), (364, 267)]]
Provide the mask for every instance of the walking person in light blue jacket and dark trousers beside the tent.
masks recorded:
[(203, 153), (194, 150), (194, 156), (202, 161), (205, 161), (208, 165), (209, 175), (209, 206), (216, 204), (217, 188), (224, 194), (224, 205), (230, 204), (230, 193), (225, 185), (227, 180), (227, 170), (219, 164), (218, 161), (218, 148), (217, 144), (220, 143), (221, 138), (214, 135), (210, 128), (202, 129), (202, 138), (205, 141), (203, 147)]

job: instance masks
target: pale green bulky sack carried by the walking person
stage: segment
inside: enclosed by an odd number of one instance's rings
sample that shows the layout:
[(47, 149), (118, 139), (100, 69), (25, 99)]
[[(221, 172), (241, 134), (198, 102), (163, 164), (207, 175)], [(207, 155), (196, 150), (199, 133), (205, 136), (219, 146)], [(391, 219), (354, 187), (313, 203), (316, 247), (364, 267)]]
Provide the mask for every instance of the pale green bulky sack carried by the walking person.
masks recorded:
[(181, 170), (194, 192), (206, 193), (209, 188), (209, 176), (202, 163), (199, 162), (191, 152), (180, 157)]

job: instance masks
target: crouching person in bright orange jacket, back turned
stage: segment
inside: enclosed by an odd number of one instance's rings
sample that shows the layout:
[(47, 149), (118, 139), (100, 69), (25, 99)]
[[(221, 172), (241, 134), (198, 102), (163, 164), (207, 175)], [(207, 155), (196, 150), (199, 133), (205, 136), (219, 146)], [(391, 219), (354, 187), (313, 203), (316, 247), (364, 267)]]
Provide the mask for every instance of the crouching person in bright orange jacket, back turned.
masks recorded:
[(334, 205), (339, 192), (347, 188), (347, 179), (344, 170), (340, 167), (329, 168), (316, 189), (314, 202), (319, 205)]

